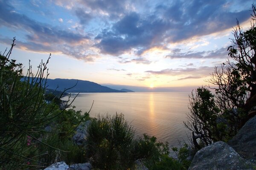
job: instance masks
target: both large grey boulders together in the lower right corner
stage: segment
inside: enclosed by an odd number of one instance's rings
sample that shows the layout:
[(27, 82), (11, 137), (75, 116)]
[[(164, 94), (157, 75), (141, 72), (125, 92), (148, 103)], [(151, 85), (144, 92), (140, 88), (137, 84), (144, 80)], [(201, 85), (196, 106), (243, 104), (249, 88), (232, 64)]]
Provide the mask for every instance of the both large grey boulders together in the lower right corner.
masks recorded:
[(202, 148), (189, 170), (253, 170), (256, 167), (256, 116), (228, 144), (219, 141)]

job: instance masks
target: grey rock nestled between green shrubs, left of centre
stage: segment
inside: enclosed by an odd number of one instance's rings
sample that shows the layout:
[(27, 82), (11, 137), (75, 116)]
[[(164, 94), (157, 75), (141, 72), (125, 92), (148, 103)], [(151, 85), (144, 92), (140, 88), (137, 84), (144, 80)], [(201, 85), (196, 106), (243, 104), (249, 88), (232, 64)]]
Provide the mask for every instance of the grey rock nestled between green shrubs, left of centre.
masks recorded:
[(72, 139), (77, 145), (81, 146), (85, 144), (88, 125), (90, 125), (90, 120), (82, 122), (78, 127), (76, 127), (76, 134)]

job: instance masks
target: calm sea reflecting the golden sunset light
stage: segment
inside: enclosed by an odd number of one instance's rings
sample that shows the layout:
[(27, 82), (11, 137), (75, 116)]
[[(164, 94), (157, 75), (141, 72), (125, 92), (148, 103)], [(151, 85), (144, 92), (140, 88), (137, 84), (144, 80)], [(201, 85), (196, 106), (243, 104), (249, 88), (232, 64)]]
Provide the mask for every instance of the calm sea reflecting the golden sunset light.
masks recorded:
[[(187, 140), (183, 126), (188, 110), (189, 93), (80, 93), (73, 105), (76, 110), (98, 114), (123, 113), (138, 135), (148, 133), (159, 141), (178, 146)], [(67, 100), (67, 97), (63, 98)]]

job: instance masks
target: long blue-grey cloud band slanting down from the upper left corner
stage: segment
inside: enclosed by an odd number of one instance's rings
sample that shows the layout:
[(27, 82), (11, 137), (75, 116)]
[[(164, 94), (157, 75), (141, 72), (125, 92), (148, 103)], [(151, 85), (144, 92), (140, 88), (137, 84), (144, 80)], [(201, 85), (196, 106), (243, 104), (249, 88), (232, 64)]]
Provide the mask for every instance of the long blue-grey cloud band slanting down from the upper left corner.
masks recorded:
[[(0, 23), (14, 30), (26, 30), (26, 41), (16, 41), (18, 48), (47, 53), (61, 52), (84, 61), (93, 61), (98, 57), (84, 50), (84, 42), (90, 40), (89, 37), (32, 20), (15, 12), (15, 8), (6, 1), (0, 1)], [(1, 38), (0, 41), (4, 43), (10, 40)]]

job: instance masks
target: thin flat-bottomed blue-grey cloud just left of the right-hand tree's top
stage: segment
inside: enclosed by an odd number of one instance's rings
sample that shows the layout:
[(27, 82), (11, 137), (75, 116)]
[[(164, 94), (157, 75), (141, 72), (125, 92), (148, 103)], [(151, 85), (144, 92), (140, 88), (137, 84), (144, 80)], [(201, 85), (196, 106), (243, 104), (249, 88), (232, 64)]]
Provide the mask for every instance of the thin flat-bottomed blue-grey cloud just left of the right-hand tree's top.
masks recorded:
[(193, 52), (188, 51), (186, 53), (180, 52), (180, 50), (173, 50), (171, 54), (167, 55), (166, 58), (177, 59), (177, 58), (187, 58), (187, 59), (217, 59), (217, 58), (227, 58), (227, 48), (220, 48), (217, 50), (211, 51), (201, 51), (201, 52)]

